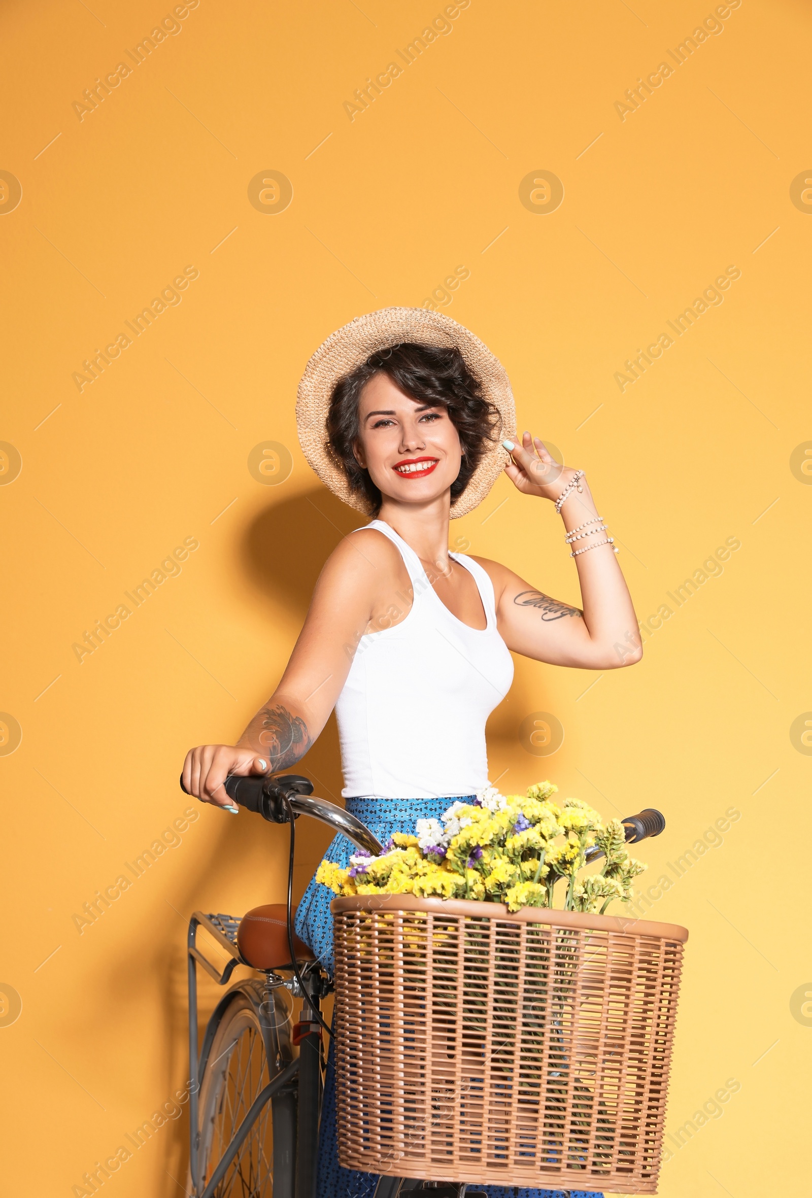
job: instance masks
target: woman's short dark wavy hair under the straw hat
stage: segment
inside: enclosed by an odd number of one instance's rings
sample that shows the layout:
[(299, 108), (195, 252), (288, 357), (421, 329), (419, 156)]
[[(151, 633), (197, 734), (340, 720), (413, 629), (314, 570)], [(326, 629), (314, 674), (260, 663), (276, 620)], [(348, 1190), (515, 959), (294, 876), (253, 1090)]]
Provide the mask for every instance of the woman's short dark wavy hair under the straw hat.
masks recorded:
[(498, 440), (502, 418), (495, 404), (483, 398), (481, 387), (457, 349), (404, 343), (378, 350), (351, 374), (335, 383), (327, 413), (325, 446), (328, 455), (347, 477), (350, 490), (365, 500), (372, 515), (381, 509), (382, 496), (358, 464), (353, 446), (358, 441), (358, 400), (376, 374), (386, 374), (405, 394), (420, 404), (444, 407), (460, 436), (462, 461), (452, 483), (452, 503), (462, 495), (471, 476), (487, 449)]

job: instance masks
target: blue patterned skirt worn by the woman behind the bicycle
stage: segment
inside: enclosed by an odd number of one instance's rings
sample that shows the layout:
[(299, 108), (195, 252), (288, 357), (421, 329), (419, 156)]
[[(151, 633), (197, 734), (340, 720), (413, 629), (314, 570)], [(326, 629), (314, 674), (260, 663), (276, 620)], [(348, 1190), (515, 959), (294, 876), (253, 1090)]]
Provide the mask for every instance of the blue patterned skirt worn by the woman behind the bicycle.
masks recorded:
[[(472, 795), (460, 795), (471, 799)], [(454, 799), (347, 799), (347, 811), (365, 823), (369, 830), (384, 845), (394, 831), (413, 833), (418, 819), (440, 819)], [(325, 853), (328, 861), (346, 869), (351, 855), (357, 852), (344, 836), (337, 836)], [(333, 973), (333, 915), (329, 904), (333, 891), (311, 878), (296, 912), (296, 934), (315, 952), (322, 967)], [(319, 1132), (319, 1198), (372, 1198), (377, 1175), (343, 1169), (338, 1161), (338, 1136), (335, 1126), (335, 1047), (331, 1037), (327, 1055), (327, 1077), (321, 1109)], [(484, 1190), (489, 1198), (601, 1198), (593, 1192), (562, 1190), (520, 1190), (515, 1186), (469, 1186)], [(428, 1191), (429, 1193), (431, 1191)]]

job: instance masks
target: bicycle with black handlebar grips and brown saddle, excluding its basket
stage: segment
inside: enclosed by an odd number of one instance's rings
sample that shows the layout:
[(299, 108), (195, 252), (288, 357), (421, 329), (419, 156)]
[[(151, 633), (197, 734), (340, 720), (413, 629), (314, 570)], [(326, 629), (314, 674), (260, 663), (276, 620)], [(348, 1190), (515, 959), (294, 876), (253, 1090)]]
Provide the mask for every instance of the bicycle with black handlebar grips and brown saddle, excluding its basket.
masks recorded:
[[(263, 819), (289, 824), (287, 897), (285, 903), (255, 907), (242, 918), (196, 910), (189, 921), (189, 1193), (190, 1198), (316, 1198), (326, 1071), (322, 1029), (332, 1035), (321, 1003), (334, 986), (293, 933), (295, 821), (307, 815), (374, 855), (383, 849), (359, 819), (316, 798), (313, 783), (302, 775), (232, 776), (226, 779), (225, 789), (232, 801)], [(623, 823), (629, 843), (658, 836), (665, 828), (663, 817), (652, 809)], [(589, 849), (587, 860), (600, 855), (600, 849)], [(200, 927), (226, 955), (225, 968), (201, 951)], [(256, 974), (223, 994), (202, 1045), (198, 964), (219, 986), (229, 982), (237, 966), (248, 966)], [(283, 992), (291, 996), (290, 1008)], [(298, 998), (302, 1009), (291, 1029)], [(430, 1192), (434, 1198), (485, 1198), (465, 1184), (393, 1176), (380, 1178), (375, 1198), (399, 1198), (416, 1191)]]

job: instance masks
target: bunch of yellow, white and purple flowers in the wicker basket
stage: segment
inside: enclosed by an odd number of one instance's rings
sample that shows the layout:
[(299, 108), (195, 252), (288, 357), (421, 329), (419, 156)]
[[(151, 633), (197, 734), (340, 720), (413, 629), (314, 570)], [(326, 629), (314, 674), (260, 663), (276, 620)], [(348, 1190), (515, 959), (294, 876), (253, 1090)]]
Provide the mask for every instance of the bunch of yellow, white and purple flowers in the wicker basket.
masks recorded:
[[(349, 869), (322, 861), (316, 881), (339, 895), (413, 894), (553, 907), (564, 881), (564, 910), (604, 912), (629, 902), (646, 869), (629, 857), (619, 819), (607, 824), (580, 799), (553, 803), (558, 787), (535, 782), (525, 795), (489, 786), (471, 803), (453, 803), (441, 819), (418, 819), (416, 833), (395, 833), (380, 857), (358, 851)], [(598, 873), (578, 876), (587, 849), (604, 852)]]

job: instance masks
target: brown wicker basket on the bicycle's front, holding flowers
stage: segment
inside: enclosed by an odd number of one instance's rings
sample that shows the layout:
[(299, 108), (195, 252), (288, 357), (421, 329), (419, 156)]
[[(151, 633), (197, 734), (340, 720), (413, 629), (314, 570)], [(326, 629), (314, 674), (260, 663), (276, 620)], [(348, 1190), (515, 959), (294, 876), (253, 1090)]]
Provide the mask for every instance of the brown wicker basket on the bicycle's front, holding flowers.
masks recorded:
[(413, 895), (332, 910), (345, 1168), (656, 1192), (684, 927)]

